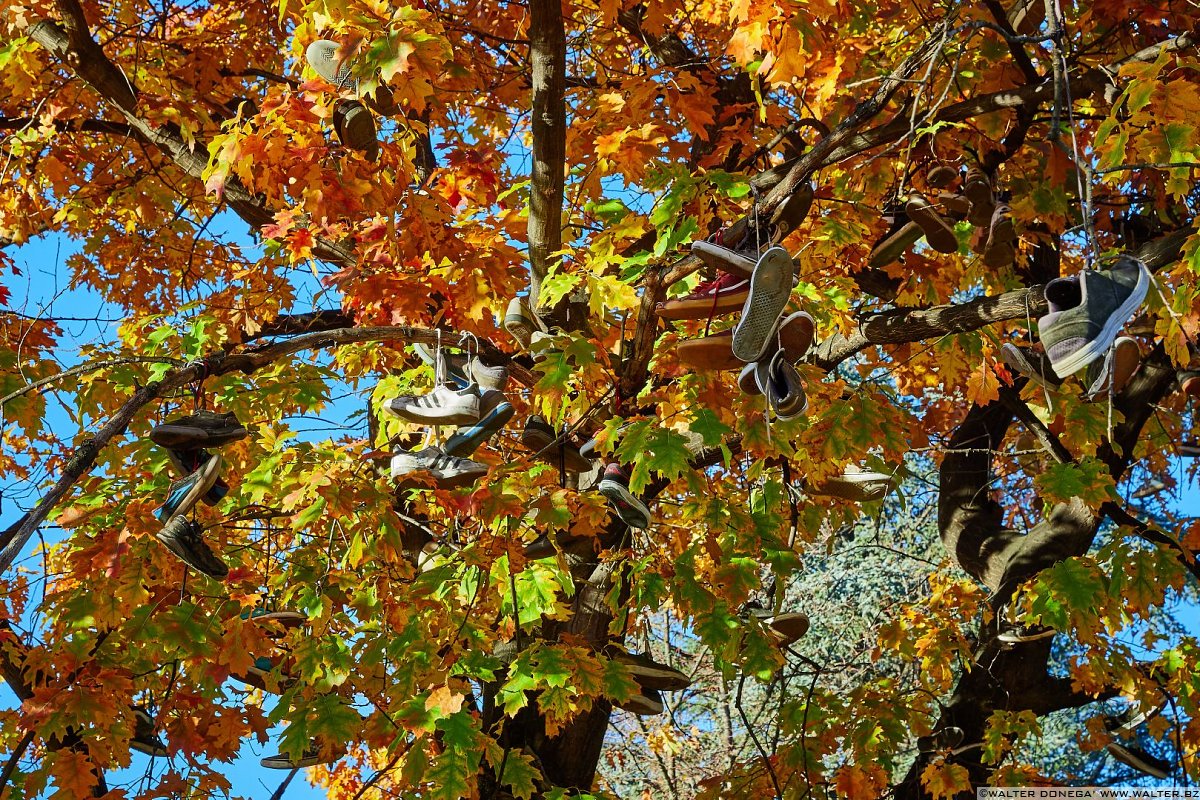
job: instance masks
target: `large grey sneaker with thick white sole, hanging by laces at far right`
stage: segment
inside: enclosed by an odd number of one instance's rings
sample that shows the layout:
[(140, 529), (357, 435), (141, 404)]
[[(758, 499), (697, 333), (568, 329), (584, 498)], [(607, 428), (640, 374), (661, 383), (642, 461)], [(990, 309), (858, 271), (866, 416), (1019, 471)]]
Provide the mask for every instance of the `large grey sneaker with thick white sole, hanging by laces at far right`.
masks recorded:
[(1148, 287), (1146, 265), (1130, 255), (1111, 269), (1048, 283), (1050, 313), (1038, 320), (1038, 333), (1055, 373), (1066, 378), (1103, 357)]

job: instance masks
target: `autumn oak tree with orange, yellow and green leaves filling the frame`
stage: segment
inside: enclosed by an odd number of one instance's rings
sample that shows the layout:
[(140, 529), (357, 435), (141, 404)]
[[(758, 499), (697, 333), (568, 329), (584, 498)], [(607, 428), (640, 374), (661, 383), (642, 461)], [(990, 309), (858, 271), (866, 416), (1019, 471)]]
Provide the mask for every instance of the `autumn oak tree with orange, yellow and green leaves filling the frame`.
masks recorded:
[[(103, 793), (136, 703), (197, 793), (242, 792), (222, 759), (281, 721), (292, 756), (352, 746), (320, 774), (338, 798), (587, 792), (612, 704), (636, 688), (601, 651), (647, 609), (712, 650), (726, 691), (835, 663), (779, 649), (739, 609), (794, 596), (770, 587), (862, 512), (823, 482), (906, 456), (936, 473), (936, 497), (908, 506), (936, 506), (944, 560), (928, 595), (870, 632), (878, 668), (776, 694), (775, 734), (707, 764), (708, 796), (1063, 780), (1026, 748), (1039, 720), (1079, 710), (1080, 747), (1097, 750), (1109, 734), (1093, 711), (1117, 697), (1169, 702), (1151, 734), (1195, 777), (1196, 643), (1169, 612), (1200, 576), (1200, 530), (1128, 501), (1141, 475), (1172, 482), (1195, 435), (1176, 391), (1200, 329), (1190, 8), (38, 0), (2, 13), (0, 236), (10, 251), (77, 242), (70, 285), (124, 317), (72, 354), (64, 320), (0, 312), (0, 469), (36, 488), (0, 557), (4, 676), (23, 699), (0, 721), (2, 775), (25, 794)], [(326, 130), (347, 98), (302, 66), (323, 36), (368, 106), (392, 95), (378, 160)], [(1002, 192), (1012, 219), (978, 218), (977, 197), (950, 247), (905, 228), (911, 190), (942, 201), (938, 166), (968, 196)], [(698, 281), (683, 248), (718, 231), (794, 253), (792, 299), (820, 331), (798, 420), (768, 426), (734, 373), (680, 363), (678, 341), (713, 320), (658, 313)], [(1027, 386), (1001, 345), (1034, 331), (1049, 281), (1115, 253), (1154, 276), (1128, 329), (1140, 367), (1099, 403), (1074, 379)], [(557, 326), (538, 360), (498, 323), (527, 285)], [(343, 413), (336, 392), (378, 381), (378, 409), (427, 389), (402, 345), (474, 342), (529, 390), (510, 391), (518, 421), (599, 434), (631, 465), (630, 488), (655, 503), (649, 533), (511, 437), (480, 456), (485, 479), (448, 492), (392, 485), (371, 457), (414, 446), (415, 428), (373, 410), (338, 435), (294, 435), (295, 416)], [(170, 476), (146, 434), (204, 404), (254, 429), (222, 451), (227, 498), (198, 512), (223, 582), (154, 541)], [(18, 561), (49, 525), (61, 540)], [(553, 558), (527, 558), (539, 535), (557, 537)], [(305, 630), (274, 638), (244, 619), (266, 597)], [(1014, 618), (1057, 636), (1007, 644)], [(1130, 624), (1147, 645), (1171, 638), (1141, 652), (1122, 639)], [(227, 693), (227, 676), (281, 649), (296, 682), (277, 706)], [(952, 729), (980, 746), (947, 744)], [(182, 786), (170, 769), (142, 796)]]

